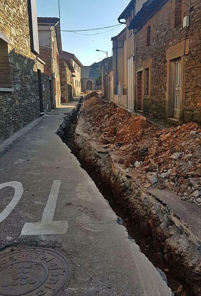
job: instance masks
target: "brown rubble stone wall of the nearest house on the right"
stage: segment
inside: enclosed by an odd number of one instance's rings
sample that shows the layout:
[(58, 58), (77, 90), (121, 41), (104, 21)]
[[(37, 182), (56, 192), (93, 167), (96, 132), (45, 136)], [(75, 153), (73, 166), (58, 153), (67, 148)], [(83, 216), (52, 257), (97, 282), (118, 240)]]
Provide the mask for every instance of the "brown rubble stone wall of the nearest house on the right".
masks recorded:
[[(137, 82), (137, 72), (143, 70), (142, 93), (144, 94), (143, 64), (152, 59), (149, 81), (150, 99), (148, 96), (144, 97), (143, 109), (157, 118), (171, 117), (167, 114), (167, 104), (171, 104), (167, 101), (167, 79), (172, 79), (172, 73), (169, 73), (168, 77), (166, 53), (180, 50), (181, 54), (178, 54), (178, 58), (184, 60), (184, 67), (181, 68), (183, 93), (180, 93), (180, 120), (201, 123), (201, 2), (192, 0), (191, 7), (189, 5), (189, 0), (183, 0), (182, 5), (181, 1), (169, 0), (136, 33), (135, 81)], [(175, 8), (181, 11), (178, 13)], [(186, 30), (183, 28), (183, 17), (189, 15), (189, 11), (190, 27)], [(147, 46), (149, 26), (151, 26), (150, 46)], [(175, 45), (177, 47), (173, 47)], [(177, 58), (176, 53), (173, 56)]]

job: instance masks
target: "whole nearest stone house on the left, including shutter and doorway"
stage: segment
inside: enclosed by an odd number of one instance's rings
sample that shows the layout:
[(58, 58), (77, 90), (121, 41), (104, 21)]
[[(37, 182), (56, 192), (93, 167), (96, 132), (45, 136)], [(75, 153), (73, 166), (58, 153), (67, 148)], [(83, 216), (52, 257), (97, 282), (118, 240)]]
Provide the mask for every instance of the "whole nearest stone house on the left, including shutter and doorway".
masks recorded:
[(39, 53), (35, 0), (0, 4), (0, 140), (51, 109)]

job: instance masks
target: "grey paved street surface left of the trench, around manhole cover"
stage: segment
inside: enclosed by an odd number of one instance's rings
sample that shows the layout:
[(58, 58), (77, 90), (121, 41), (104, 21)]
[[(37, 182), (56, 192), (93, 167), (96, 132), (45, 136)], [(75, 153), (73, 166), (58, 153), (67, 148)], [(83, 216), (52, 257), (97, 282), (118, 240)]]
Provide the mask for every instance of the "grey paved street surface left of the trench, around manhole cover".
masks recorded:
[(61, 252), (72, 269), (66, 296), (171, 296), (56, 135), (76, 104), (62, 105), (53, 112), (59, 115), (44, 116), (0, 149), (0, 256), (19, 246)]

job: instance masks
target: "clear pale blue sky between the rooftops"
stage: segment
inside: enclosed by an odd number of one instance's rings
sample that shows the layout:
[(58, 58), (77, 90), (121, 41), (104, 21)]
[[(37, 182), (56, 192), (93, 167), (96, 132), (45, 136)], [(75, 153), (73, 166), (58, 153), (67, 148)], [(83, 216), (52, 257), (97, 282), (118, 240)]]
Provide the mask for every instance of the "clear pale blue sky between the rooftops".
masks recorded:
[[(38, 17), (59, 17), (57, 0), (36, 0)], [(118, 24), (118, 16), (128, 5), (129, 0), (60, 0), (61, 30), (85, 30), (102, 28)], [(94, 35), (84, 36), (62, 32), (62, 49), (74, 53), (85, 66), (99, 62), (105, 54), (96, 49), (112, 51), (111, 37), (117, 35), (125, 25), (114, 30)], [(110, 30), (80, 32), (86, 34), (99, 33)]]

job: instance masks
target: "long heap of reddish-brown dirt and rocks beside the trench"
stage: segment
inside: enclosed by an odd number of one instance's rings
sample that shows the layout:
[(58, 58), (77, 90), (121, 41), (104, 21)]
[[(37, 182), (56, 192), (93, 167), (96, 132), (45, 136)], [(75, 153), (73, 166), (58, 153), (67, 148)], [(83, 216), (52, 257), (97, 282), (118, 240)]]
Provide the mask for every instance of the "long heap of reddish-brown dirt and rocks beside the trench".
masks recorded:
[(160, 130), (144, 116), (91, 97), (83, 107), (85, 130), (116, 155), (140, 186), (167, 188), (201, 205), (201, 127)]

